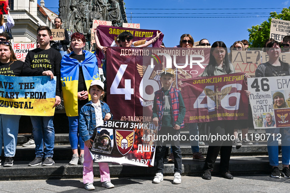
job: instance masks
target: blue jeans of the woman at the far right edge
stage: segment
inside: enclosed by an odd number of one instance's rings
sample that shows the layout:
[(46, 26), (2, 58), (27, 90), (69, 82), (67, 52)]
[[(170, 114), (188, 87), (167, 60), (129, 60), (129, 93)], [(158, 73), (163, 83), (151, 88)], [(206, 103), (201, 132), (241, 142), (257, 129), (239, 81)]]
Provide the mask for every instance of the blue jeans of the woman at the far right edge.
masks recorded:
[[(282, 164), (290, 165), (290, 127), (266, 129), (266, 133), (271, 134), (267, 141), (270, 165), (279, 165), (278, 140), (281, 140), (282, 145)], [(273, 138), (273, 134), (281, 134), (281, 138), (280, 136)]]

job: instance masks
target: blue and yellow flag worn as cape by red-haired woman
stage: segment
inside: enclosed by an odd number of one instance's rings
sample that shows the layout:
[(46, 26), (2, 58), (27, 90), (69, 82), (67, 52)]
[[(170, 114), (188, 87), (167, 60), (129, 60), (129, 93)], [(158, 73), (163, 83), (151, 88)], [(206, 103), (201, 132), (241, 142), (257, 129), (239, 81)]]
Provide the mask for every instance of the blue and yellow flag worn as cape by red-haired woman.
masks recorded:
[[(64, 55), (60, 64), (60, 76), (63, 92), (63, 102), (67, 116), (78, 116), (78, 85), (79, 68), (82, 68), (83, 77), (87, 90), (95, 79), (100, 79), (98, 61), (94, 54), (83, 51), (85, 59), (79, 62), (71, 58), (70, 54)], [(90, 96), (89, 96), (90, 100)]]

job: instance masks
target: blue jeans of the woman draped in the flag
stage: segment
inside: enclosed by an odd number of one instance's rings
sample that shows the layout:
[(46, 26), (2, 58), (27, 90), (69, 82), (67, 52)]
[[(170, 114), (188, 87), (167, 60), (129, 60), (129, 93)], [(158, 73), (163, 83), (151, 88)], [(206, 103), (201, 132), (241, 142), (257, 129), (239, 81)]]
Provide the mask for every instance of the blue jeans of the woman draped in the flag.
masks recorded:
[(79, 135), (79, 116), (68, 116), (69, 118), (69, 139), (72, 149), (84, 149), (84, 142)]

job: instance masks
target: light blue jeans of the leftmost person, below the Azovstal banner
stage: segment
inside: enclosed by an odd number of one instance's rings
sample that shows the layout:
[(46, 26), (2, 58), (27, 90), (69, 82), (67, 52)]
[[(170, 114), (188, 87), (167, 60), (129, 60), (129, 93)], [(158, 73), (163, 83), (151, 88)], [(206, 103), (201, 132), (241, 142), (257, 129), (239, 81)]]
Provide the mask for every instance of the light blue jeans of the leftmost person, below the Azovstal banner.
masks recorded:
[(4, 156), (14, 157), (21, 115), (0, 114), (0, 155), (4, 143)]

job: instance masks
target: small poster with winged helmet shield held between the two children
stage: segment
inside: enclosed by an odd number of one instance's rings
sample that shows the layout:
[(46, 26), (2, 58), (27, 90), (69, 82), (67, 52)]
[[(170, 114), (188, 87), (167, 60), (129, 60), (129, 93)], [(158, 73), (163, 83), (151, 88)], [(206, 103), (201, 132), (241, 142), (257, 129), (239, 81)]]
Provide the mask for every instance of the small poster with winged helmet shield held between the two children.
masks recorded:
[(94, 162), (154, 166), (158, 138), (152, 122), (108, 120), (95, 129), (91, 139)]

